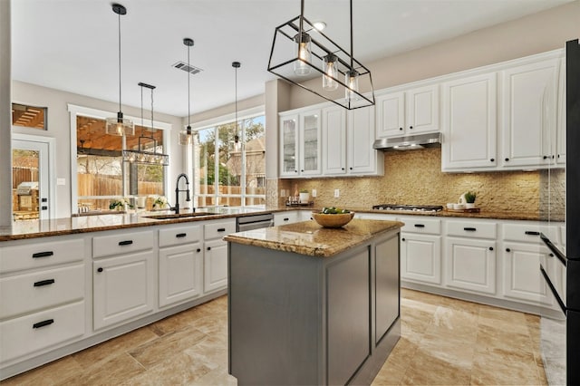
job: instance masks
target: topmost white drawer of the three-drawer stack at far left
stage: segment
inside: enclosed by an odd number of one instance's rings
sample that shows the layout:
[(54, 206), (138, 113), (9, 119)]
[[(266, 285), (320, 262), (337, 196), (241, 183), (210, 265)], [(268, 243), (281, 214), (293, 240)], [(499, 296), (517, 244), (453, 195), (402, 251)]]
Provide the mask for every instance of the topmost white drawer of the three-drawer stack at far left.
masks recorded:
[[(42, 240), (42, 239), (41, 239)], [(34, 242), (0, 247), (0, 274), (48, 265), (82, 261), (84, 240)]]

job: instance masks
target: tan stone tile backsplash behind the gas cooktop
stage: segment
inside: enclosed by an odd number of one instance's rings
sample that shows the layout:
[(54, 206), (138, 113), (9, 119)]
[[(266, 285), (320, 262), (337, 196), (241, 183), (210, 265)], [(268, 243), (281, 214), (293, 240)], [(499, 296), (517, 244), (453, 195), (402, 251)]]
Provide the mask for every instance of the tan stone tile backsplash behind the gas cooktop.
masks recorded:
[[(332, 179), (280, 179), (266, 181), (268, 205), (284, 205), (281, 189), (290, 194), (298, 188), (316, 189), (317, 207), (372, 207), (376, 204), (442, 205), (457, 202), (468, 191), (477, 192), (476, 206), (487, 211), (517, 211), (538, 213), (540, 195), (546, 197), (547, 184), (542, 183), (540, 171), (499, 171), (479, 173), (441, 172), (441, 150), (424, 149), (388, 152), (382, 177), (349, 177)], [(564, 213), (565, 173), (552, 170), (561, 187), (551, 193), (553, 214)], [(543, 179), (542, 179), (543, 180)], [(334, 198), (339, 189), (340, 198)], [(270, 194), (270, 190), (272, 194)], [(555, 199), (556, 198), (556, 199)], [(559, 213), (558, 213), (559, 212)]]

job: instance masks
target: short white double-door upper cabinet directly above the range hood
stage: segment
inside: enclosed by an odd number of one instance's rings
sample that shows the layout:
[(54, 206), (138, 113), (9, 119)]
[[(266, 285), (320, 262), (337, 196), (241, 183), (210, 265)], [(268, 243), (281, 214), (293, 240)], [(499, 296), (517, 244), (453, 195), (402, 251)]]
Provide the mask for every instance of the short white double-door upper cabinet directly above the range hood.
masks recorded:
[(440, 130), (439, 84), (378, 96), (376, 106), (378, 138)]

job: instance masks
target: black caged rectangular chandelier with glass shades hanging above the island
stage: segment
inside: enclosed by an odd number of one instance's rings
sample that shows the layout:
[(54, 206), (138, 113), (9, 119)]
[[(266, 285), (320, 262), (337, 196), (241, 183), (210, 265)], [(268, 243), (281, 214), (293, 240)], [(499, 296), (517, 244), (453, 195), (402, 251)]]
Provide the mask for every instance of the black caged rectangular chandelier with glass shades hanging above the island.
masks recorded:
[(374, 105), (371, 71), (353, 56), (353, 0), (350, 0), (351, 52), (343, 50), (300, 15), (275, 29), (268, 62), (287, 82), (348, 110)]

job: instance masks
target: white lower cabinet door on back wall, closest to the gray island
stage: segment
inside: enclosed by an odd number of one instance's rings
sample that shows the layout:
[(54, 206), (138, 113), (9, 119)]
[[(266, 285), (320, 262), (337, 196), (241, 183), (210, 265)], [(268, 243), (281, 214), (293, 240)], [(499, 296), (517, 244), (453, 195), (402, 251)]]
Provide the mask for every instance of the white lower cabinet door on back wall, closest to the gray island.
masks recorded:
[(441, 284), (441, 237), (401, 233), (401, 279)]

